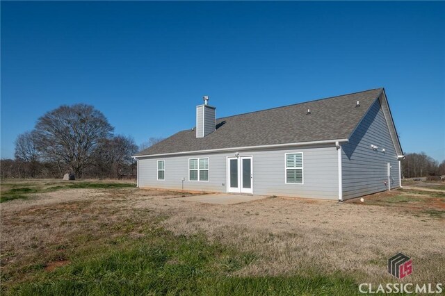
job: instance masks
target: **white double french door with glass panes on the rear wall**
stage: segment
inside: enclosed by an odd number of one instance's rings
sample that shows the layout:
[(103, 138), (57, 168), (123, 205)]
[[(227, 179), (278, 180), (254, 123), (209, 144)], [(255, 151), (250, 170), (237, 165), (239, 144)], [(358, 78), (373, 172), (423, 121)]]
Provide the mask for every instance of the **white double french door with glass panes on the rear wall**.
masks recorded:
[(227, 192), (253, 193), (252, 156), (227, 158)]

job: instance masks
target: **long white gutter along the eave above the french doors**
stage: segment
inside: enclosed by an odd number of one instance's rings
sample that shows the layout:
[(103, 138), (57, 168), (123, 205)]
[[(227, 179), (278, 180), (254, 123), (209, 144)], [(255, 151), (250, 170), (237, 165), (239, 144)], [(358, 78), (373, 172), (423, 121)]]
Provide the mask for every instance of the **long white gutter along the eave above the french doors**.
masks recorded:
[(348, 142), (348, 141), (349, 141), (348, 139), (321, 140), (321, 141), (311, 141), (311, 142), (274, 144), (274, 145), (243, 146), (243, 147), (231, 147), (231, 148), (221, 148), (221, 149), (184, 151), (184, 152), (173, 152), (173, 153), (164, 153), (164, 154), (134, 155), (131, 157), (137, 159), (137, 158), (142, 158), (142, 157), (170, 156), (170, 155), (182, 155), (182, 154), (203, 154), (203, 153), (209, 153), (209, 152), (225, 152), (225, 151), (237, 151), (237, 150), (263, 149), (263, 148), (293, 147), (293, 146), (319, 145), (319, 144), (330, 144), (330, 143), (333, 144), (333, 143)]

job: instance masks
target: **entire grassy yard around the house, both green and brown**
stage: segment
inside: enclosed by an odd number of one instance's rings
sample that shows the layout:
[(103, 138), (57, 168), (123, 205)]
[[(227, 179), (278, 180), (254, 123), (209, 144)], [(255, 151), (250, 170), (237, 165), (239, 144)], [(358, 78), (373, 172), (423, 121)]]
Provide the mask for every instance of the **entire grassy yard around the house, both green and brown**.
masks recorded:
[(397, 282), (398, 252), (414, 264), (403, 282), (444, 282), (443, 191), (225, 206), (133, 186), (1, 181), (1, 293), (352, 295)]

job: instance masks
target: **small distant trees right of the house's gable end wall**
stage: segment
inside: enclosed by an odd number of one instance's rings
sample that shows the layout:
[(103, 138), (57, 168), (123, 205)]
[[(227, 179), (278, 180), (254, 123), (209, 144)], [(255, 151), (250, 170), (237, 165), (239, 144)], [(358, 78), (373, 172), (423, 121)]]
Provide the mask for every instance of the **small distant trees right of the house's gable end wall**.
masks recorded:
[(409, 153), (402, 161), (402, 175), (404, 178), (442, 176), (445, 175), (445, 161), (439, 163), (425, 152)]

